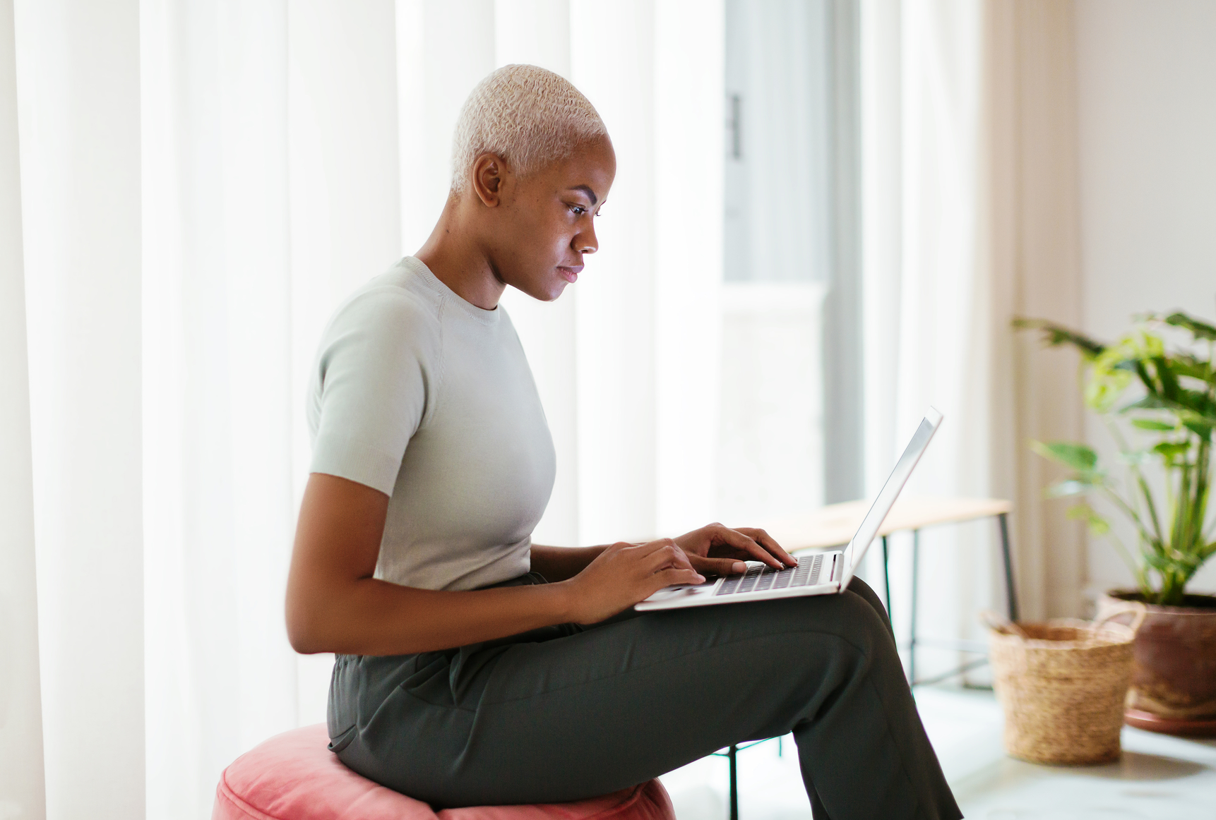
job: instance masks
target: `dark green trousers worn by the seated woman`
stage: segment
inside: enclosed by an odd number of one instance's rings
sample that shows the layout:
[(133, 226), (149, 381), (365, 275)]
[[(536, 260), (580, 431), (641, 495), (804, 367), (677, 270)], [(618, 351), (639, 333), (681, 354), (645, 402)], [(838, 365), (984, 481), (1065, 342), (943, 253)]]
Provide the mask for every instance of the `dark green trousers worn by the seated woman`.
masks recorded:
[(817, 820), (962, 816), (858, 579), (841, 595), (339, 656), (330, 688), (339, 759), (437, 808), (606, 794), (790, 731)]

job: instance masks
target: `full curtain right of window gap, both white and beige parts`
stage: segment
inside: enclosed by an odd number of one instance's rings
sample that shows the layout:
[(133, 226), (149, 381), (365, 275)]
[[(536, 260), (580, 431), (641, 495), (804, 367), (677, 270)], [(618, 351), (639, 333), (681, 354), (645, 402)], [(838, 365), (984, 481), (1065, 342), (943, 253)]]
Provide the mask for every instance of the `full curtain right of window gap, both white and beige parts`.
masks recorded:
[[(1073, 4), (861, 9), (868, 488), (935, 405), (946, 419), (908, 492), (1012, 499), (1023, 615), (1079, 615), (1083, 533), (1045, 505), (1045, 465), (1026, 452), (1030, 439), (1080, 437), (1073, 363), (1010, 328), (1080, 313)], [(893, 544), (901, 633), (910, 541)], [(922, 635), (983, 637), (976, 612), (1004, 607), (997, 544), (991, 521), (923, 533)], [(974, 657), (921, 651), (918, 677)]]

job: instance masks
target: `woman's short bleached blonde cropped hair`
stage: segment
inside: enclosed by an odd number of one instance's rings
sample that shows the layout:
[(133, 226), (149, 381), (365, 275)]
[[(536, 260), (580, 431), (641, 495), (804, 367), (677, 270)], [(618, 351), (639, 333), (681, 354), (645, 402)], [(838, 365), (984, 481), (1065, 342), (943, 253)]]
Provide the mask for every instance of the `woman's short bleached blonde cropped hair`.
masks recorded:
[(595, 106), (561, 74), (503, 66), (468, 95), (452, 138), (452, 191), (468, 186), (477, 158), (497, 154), (527, 176), (565, 159), (580, 142), (608, 135)]

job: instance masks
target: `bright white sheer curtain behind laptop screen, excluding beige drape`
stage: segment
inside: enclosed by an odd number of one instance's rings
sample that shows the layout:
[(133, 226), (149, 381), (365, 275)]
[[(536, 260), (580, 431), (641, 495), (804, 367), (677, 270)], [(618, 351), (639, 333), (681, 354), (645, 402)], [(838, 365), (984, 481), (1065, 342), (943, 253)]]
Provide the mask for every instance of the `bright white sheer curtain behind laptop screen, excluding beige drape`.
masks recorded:
[[(984, 4), (873, 0), (862, 5), (863, 344), (867, 488), (885, 480), (929, 405), (946, 417), (908, 492), (997, 496), (986, 425), (985, 354), (997, 318), (981, 256), (986, 180)], [(987, 527), (922, 537), (918, 630), (964, 638), (992, 604)], [(961, 531), (962, 530), (962, 531)], [(893, 620), (911, 618), (911, 541), (893, 539)], [(877, 550), (876, 550), (877, 552)], [(874, 560), (879, 556), (876, 555)], [(879, 577), (873, 572), (871, 578)], [(901, 635), (902, 637), (902, 635)], [(922, 650), (918, 677), (957, 665)]]

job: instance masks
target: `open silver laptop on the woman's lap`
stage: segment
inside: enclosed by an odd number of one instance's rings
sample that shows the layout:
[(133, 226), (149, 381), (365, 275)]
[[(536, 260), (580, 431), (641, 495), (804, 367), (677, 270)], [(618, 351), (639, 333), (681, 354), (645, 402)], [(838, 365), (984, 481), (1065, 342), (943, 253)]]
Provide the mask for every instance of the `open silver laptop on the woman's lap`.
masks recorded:
[(912, 441), (908, 442), (900, 460), (895, 463), (886, 483), (871, 504), (861, 526), (854, 533), (852, 541), (843, 550), (823, 552), (803, 555), (798, 566), (773, 570), (765, 565), (753, 565), (743, 575), (713, 578), (703, 584), (681, 584), (665, 587), (654, 593), (634, 609), (648, 612), (652, 610), (675, 610), (685, 606), (713, 606), (714, 604), (737, 604), (743, 601), (767, 600), (770, 598), (796, 598), (799, 595), (835, 595), (848, 588), (854, 573), (861, 566), (866, 550), (883, 526), (883, 520), (891, 511), (895, 499), (907, 483), (912, 469), (921, 460), (933, 434), (941, 425), (941, 413), (933, 407), (925, 413)]

